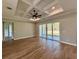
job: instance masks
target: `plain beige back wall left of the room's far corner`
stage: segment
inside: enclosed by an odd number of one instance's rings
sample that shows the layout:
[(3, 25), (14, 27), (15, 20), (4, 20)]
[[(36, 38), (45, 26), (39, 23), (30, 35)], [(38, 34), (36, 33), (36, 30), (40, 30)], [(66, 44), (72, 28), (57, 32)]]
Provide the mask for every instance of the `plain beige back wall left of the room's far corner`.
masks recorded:
[(28, 38), (34, 36), (34, 24), (25, 22), (14, 22), (14, 39)]

